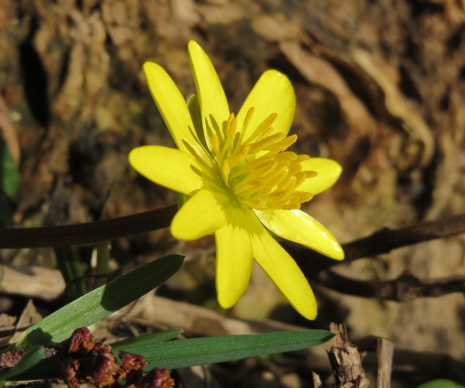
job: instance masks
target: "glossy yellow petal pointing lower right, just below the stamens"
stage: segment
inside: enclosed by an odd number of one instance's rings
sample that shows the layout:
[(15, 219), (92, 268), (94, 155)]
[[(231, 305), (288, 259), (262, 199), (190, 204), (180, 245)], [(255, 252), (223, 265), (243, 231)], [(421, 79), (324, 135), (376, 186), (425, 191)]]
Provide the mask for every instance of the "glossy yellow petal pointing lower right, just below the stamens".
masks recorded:
[(344, 259), (344, 251), (334, 236), (302, 210), (254, 210), (258, 219), (279, 237), (308, 246), (331, 259)]

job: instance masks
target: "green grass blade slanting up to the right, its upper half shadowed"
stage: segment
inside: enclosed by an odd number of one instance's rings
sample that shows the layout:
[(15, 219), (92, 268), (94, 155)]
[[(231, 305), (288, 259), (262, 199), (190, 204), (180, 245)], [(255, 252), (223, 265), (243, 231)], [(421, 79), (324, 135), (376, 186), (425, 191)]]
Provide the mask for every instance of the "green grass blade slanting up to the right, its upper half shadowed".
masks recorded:
[(78, 327), (100, 321), (169, 279), (183, 259), (179, 255), (165, 256), (81, 296), (29, 327), (16, 348), (53, 345), (67, 339)]

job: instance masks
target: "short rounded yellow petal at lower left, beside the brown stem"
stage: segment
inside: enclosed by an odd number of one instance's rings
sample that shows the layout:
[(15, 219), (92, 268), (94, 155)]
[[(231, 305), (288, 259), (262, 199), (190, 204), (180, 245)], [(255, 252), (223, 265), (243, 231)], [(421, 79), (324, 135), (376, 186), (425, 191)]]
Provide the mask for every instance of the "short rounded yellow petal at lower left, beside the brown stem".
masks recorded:
[(225, 224), (226, 215), (217, 197), (202, 189), (178, 210), (171, 222), (171, 234), (178, 240), (196, 240)]

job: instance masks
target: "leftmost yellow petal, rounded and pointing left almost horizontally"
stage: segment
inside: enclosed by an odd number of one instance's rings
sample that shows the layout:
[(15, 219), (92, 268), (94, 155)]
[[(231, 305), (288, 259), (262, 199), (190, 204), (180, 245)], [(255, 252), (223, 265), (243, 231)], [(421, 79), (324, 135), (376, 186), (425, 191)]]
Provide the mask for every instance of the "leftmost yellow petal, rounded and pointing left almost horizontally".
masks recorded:
[(151, 181), (179, 193), (191, 194), (202, 188), (194, 171), (202, 167), (187, 152), (164, 146), (142, 146), (129, 153), (129, 163)]

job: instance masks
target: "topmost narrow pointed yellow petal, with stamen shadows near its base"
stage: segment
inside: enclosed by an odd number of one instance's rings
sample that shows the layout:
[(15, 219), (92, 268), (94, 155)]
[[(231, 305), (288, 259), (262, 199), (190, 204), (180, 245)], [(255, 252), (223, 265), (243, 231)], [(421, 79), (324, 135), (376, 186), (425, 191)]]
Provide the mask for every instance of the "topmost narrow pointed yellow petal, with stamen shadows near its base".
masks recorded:
[(230, 115), (228, 101), (217, 72), (205, 51), (193, 40), (189, 42), (187, 50), (195, 88), (199, 96), (205, 140), (211, 149), (208, 130), (212, 133), (219, 131), (223, 133), (223, 124)]

